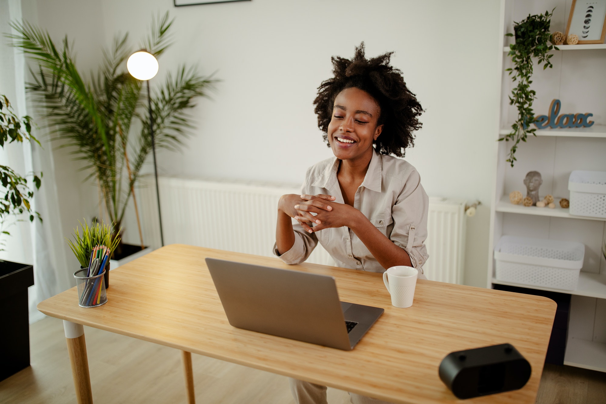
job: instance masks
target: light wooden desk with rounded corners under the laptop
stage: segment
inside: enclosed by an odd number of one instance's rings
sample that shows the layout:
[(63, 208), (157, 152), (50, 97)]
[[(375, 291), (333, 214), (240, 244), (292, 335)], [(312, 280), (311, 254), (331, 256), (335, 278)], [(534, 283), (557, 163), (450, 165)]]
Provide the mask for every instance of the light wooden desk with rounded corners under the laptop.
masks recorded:
[[(331, 275), (341, 300), (381, 307), (385, 313), (353, 351), (234, 328), (205, 257)], [(72, 288), (42, 301), (38, 309), (76, 328), (87, 325), (181, 349), (186, 369), (187, 352), (193, 352), (396, 403), (459, 402), (438, 377), (441, 360), (452, 351), (500, 343), (513, 344), (528, 359), (530, 380), (518, 391), (465, 402), (534, 403), (556, 311), (544, 297), (426, 280), (418, 281), (413, 306), (399, 309), (391, 306), (381, 274), (288, 266), (278, 258), (182, 244), (116, 268), (110, 277), (103, 306), (79, 307)], [(67, 324), (77, 396), (92, 402), (84, 335), (73, 335)]]

